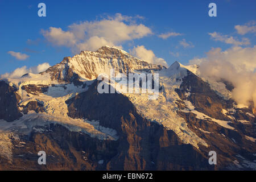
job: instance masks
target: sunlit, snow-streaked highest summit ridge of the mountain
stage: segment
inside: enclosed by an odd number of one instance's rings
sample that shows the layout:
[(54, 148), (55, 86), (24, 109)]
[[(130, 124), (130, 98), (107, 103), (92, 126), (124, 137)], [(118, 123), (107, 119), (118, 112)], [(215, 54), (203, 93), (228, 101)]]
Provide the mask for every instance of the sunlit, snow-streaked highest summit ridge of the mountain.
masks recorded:
[(73, 76), (82, 80), (94, 80), (101, 73), (127, 73), (135, 70), (165, 68), (163, 65), (147, 63), (116, 47), (103, 46), (97, 51), (81, 51), (79, 55), (64, 57), (61, 63), (48, 68), (52, 80), (71, 82)]

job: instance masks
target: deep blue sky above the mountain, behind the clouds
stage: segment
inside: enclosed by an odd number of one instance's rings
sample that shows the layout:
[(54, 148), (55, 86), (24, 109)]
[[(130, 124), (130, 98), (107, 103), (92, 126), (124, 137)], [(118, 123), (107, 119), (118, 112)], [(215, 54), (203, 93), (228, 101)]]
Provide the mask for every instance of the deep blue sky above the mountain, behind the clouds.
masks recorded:
[[(38, 16), (38, 4), (46, 4), (46, 17)], [(208, 5), (217, 5), (217, 17), (209, 17)], [(111, 19), (125, 23), (128, 27), (142, 24), (150, 33), (141, 32), (139, 38), (134, 34), (129, 38), (109, 38), (104, 40), (122, 46), (132, 52), (137, 46), (154, 52), (156, 58), (166, 60), (170, 65), (178, 60), (183, 64), (195, 57), (204, 57), (211, 48), (222, 50), (234, 46), (253, 47), (255, 45), (254, 26), (256, 20), (256, 1), (0, 1), (0, 75), (12, 72), (26, 65), (35, 67), (38, 64), (59, 63), (65, 56), (73, 56), (77, 44), (88, 41), (90, 37), (81, 38), (77, 43), (61, 42), (60, 37), (53, 37), (49, 27), (61, 28), (61, 32), (73, 36), (71, 24), (79, 25), (88, 22), (93, 26), (96, 22)], [(117, 20), (117, 14), (123, 19)], [(143, 17), (143, 18), (142, 18)], [(245, 32), (238, 32), (235, 26), (246, 26)], [(251, 28), (252, 27), (252, 28)], [(86, 27), (85, 27), (86, 28)], [(108, 27), (104, 27), (108, 28)], [(111, 29), (111, 27), (110, 27)], [(145, 29), (145, 28), (144, 28)], [(90, 34), (94, 35), (90, 28)], [(111, 31), (111, 30), (110, 30)], [(70, 33), (71, 32), (71, 33)], [(166, 39), (159, 35), (176, 33)], [(215, 34), (212, 34), (216, 32)], [(70, 33), (70, 34), (69, 34)], [(211, 33), (211, 34), (209, 34)], [(75, 33), (74, 33), (75, 34)], [(89, 35), (89, 34), (88, 34)], [(127, 34), (128, 35), (128, 34)], [(173, 35), (173, 34), (172, 34)], [(72, 38), (71, 36), (71, 38)], [(77, 34), (75, 34), (77, 38)], [(97, 34), (101, 38), (101, 34)], [(56, 38), (56, 40), (55, 40)], [(69, 46), (67, 45), (69, 44)], [(86, 42), (85, 47), (88, 46)], [(117, 45), (115, 45), (117, 44)], [(81, 48), (81, 46), (80, 46)], [(23, 57), (13, 56), (13, 52)], [(136, 52), (134, 52), (136, 53)], [(25, 55), (25, 56), (24, 56)], [(29, 57), (26, 57), (29, 56)], [(138, 54), (139, 55), (139, 54)], [(155, 58), (154, 58), (155, 59)]]

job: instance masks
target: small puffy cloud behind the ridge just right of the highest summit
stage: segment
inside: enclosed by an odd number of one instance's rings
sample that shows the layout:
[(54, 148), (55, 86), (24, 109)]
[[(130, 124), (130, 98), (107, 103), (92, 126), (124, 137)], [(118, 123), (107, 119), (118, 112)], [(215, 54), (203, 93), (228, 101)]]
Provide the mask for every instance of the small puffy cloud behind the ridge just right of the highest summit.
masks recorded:
[(154, 52), (146, 49), (144, 46), (134, 47), (130, 53), (134, 56), (137, 56), (139, 59), (145, 60), (151, 64), (162, 64), (165, 67), (168, 67), (166, 61), (160, 57), (156, 57)]

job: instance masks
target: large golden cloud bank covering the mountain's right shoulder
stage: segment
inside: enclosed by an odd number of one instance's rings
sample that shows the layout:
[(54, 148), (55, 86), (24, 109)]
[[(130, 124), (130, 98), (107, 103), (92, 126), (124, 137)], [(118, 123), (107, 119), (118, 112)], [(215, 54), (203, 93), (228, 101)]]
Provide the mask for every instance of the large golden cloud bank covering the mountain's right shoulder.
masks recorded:
[(226, 51), (213, 48), (207, 57), (193, 59), (200, 64), (200, 76), (208, 80), (226, 80), (233, 84), (232, 97), (238, 104), (256, 107), (256, 46), (232, 47)]

